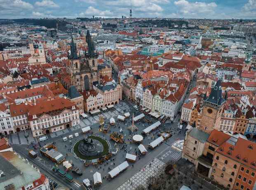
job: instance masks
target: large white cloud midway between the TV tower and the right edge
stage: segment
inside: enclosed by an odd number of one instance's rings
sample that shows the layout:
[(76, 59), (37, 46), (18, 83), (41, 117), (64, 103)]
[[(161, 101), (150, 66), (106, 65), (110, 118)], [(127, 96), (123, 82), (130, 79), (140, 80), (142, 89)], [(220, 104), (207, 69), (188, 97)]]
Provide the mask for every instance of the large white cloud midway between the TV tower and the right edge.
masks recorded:
[(215, 2), (188, 2), (187, 0), (174, 1), (174, 5), (180, 8), (181, 14), (213, 14), (217, 7)]

